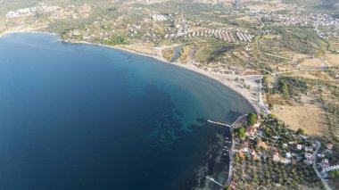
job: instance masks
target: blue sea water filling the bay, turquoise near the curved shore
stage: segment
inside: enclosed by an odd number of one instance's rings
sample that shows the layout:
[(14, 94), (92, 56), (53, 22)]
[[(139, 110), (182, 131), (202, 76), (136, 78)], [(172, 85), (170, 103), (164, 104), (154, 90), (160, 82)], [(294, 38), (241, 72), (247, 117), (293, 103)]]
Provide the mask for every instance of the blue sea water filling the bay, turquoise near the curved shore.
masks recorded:
[[(219, 83), (57, 37), (0, 38), (1, 189), (192, 189), (227, 178), (227, 128), (249, 112)], [(199, 183), (200, 181), (200, 183)]]

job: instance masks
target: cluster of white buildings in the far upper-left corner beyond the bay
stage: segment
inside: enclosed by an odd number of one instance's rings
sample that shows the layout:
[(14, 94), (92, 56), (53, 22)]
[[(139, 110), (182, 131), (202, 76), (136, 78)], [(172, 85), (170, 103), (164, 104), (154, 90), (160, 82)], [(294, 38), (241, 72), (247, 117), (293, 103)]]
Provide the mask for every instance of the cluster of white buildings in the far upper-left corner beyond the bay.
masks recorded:
[(7, 19), (18, 18), (21, 16), (35, 15), (36, 13), (41, 13), (41, 12), (55, 12), (59, 8), (60, 8), (59, 6), (39, 5), (39, 6), (22, 8), (16, 11), (7, 12), (5, 16)]

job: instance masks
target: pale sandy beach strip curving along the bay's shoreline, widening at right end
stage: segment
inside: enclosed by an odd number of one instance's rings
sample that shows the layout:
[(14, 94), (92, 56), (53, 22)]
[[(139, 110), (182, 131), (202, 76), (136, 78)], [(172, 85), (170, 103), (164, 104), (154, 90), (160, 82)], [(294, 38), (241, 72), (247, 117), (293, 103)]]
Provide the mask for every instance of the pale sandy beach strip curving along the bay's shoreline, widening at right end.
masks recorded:
[[(41, 34), (58, 36), (58, 34), (48, 33), (48, 32), (31, 31), (31, 30), (19, 30), (19, 31), (10, 30), (10, 31), (5, 31), (3, 34), (0, 34), (0, 37), (3, 37), (6, 34), (20, 33), (20, 32), (41, 33)], [(116, 46), (101, 45), (101, 44), (90, 43), (90, 42), (87, 42), (87, 41), (66, 41), (64, 43), (99, 45), (99, 46), (103, 46), (103, 47), (107, 47), (107, 48), (118, 49), (118, 50), (121, 50), (121, 51), (126, 51), (126, 52), (131, 53), (131, 54), (139, 54), (139, 55), (143, 55), (143, 56), (152, 57), (153, 59), (159, 60), (159, 61), (167, 63), (167, 64), (171, 64), (171, 65), (174, 65), (174, 66), (177, 66), (177, 67), (181, 67), (181, 68), (184, 68), (186, 70), (192, 70), (192, 71), (197, 72), (199, 74), (202, 74), (206, 77), (212, 78), (212, 79), (216, 80), (217, 82), (219, 82), (220, 84), (222, 84), (223, 86), (235, 91), (237, 94), (243, 96), (244, 99), (252, 105), (253, 110), (255, 110), (256, 112), (260, 112), (259, 95), (258, 95), (259, 85), (252, 81), (253, 78), (258, 78), (259, 76), (227, 75), (227, 74), (221, 74), (221, 73), (217, 73), (217, 72), (213, 72), (213, 71), (209, 72), (207, 70), (200, 69), (200, 68), (196, 67), (194, 64), (191, 64), (191, 63), (184, 64), (184, 63), (180, 63), (180, 62), (168, 62), (165, 58), (163, 58), (161, 56), (161, 49), (156, 50), (156, 51), (158, 51), (158, 54), (155, 55), (155, 54), (145, 54), (145, 53), (137, 52), (136, 50), (133, 50), (131, 48), (125, 48), (121, 45), (116, 45)], [(155, 49), (154, 49), (154, 51), (155, 51)], [(242, 82), (236, 81), (236, 78), (238, 78), (239, 80), (241, 78), (244, 78), (244, 82), (242, 83)], [(248, 88), (244, 87), (244, 83), (245, 83), (245, 85), (250, 85), (251, 88), (248, 89)]]

